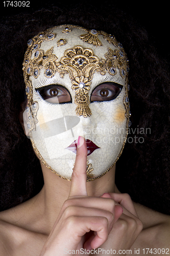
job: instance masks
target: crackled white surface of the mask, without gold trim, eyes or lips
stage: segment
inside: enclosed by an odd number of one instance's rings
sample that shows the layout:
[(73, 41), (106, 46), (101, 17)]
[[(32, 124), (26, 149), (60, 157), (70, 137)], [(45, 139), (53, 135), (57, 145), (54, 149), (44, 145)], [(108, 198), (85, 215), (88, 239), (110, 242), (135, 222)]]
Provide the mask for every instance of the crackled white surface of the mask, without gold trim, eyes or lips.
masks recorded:
[[(79, 36), (86, 34), (82, 29), (71, 28), (69, 33), (62, 33), (64, 27), (57, 28), (53, 32), (57, 34), (56, 38), (50, 41), (43, 41), (40, 50), (44, 52), (51, 47), (54, 47), (54, 52), (58, 60), (64, 56), (64, 51), (73, 48), (76, 45), (90, 48), (94, 55), (100, 59), (105, 59), (105, 54), (108, 48), (116, 49), (112, 44), (99, 35), (98, 38), (102, 42), (102, 47), (96, 47), (86, 42), (83, 42)], [(59, 39), (66, 39), (67, 44), (64, 46), (57, 46)], [(33, 57), (32, 57), (33, 58)], [(47, 165), (56, 171), (62, 177), (71, 178), (72, 167), (75, 163), (76, 154), (66, 150), (72, 142), (78, 139), (78, 136), (83, 136), (85, 139), (90, 139), (98, 147), (91, 155), (87, 157), (92, 163), (93, 177), (98, 177), (106, 172), (106, 170), (115, 162), (119, 152), (122, 150), (124, 140), (126, 137), (126, 109), (123, 103), (125, 94), (125, 78), (123, 79), (119, 72), (111, 76), (107, 72), (101, 75), (99, 72), (93, 74), (93, 79), (90, 86), (89, 97), (93, 89), (100, 83), (105, 81), (115, 81), (122, 84), (124, 87), (116, 99), (104, 102), (90, 103), (90, 110), (92, 115), (89, 117), (77, 116), (75, 100), (75, 90), (71, 89), (72, 83), (65, 74), (63, 78), (58, 72), (52, 78), (44, 76), (44, 68), (41, 69), (38, 78), (31, 77), (33, 86), (33, 100), (39, 104), (37, 112), (36, 131), (32, 131), (32, 139), (37, 147), (37, 150), (45, 160)], [(72, 103), (66, 104), (52, 104), (41, 98), (35, 88), (47, 86), (48, 84), (61, 84), (69, 91), (72, 97)], [(64, 117), (71, 116), (80, 118), (76, 126), (67, 130)]]

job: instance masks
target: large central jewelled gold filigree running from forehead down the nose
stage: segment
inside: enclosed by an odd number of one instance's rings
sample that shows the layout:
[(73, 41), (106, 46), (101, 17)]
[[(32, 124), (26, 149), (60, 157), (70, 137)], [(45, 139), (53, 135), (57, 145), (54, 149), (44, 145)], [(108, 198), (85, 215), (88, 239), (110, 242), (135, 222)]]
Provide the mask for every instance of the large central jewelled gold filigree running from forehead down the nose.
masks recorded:
[(64, 52), (64, 57), (61, 58), (61, 65), (56, 67), (56, 70), (63, 77), (68, 73), (72, 82), (72, 89), (75, 90), (75, 103), (77, 104), (76, 113), (78, 116), (87, 117), (91, 115), (89, 108), (90, 84), (93, 73), (100, 72), (105, 74), (104, 64), (94, 55), (89, 48), (75, 46), (72, 49), (67, 49)]

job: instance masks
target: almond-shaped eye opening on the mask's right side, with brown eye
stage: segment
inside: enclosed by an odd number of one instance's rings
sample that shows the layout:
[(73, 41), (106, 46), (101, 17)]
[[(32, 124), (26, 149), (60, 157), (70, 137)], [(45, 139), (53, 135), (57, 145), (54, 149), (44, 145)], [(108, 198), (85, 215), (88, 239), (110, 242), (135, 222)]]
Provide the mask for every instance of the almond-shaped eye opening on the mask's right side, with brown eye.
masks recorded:
[(122, 91), (123, 86), (115, 82), (103, 82), (96, 86), (90, 97), (90, 102), (110, 101)]

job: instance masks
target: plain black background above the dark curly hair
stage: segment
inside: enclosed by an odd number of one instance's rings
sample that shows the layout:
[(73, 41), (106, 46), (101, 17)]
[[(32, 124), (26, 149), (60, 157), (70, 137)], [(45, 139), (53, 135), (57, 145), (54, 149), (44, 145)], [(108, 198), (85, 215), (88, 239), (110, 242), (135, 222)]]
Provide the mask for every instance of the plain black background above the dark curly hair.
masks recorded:
[[(17, 0), (18, 1), (18, 0)], [(14, 2), (14, 1), (13, 1)], [(27, 0), (26, 0), (27, 2)], [(7, 2), (6, 2), (7, 3)], [(37, 1), (30, 0), (30, 7), (4, 7), (4, 0), (1, 0), (0, 13), (1, 17), (18, 14), (22, 12), (33, 12), (39, 10), (41, 8), (48, 8), (51, 5), (56, 5), (58, 7), (62, 7), (67, 5), (68, 7), (74, 8), (76, 4), (80, 3), (80, 1), (56, 1), (56, 0), (46, 0)], [(169, 7), (168, 3), (166, 4), (163, 1), (105, 1), (105, 4), (112, 4), (118, 7), (119, 9), (124, 10), (126, 13), (130, 14), (134, 17), (140, 25), (142, 25), (149, 33), (150, 37), (155, 43), (157, 51), (163, 58), (165, 58), (168, 62), (170, 62), (170, 44), (169, 44)], [(96, 8), (96, 6), (100, 6), (99, 2), (92, 1), (82, 1), (83, 5), (91, 5), (91, 8)]]

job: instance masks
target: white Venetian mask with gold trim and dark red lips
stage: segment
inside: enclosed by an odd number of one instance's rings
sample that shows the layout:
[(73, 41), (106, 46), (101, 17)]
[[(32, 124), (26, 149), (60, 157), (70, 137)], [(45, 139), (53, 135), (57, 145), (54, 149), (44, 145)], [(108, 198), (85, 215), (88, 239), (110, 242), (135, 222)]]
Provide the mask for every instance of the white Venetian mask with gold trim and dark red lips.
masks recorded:
[(24, 119), (35, 152), (52, 172), (70, 180), (83, 136), (87, 181), (103, 176), (122, 153), (129, 125), (129, 68), (122, 45), (103, 31), (62, 25), (39, 33), (28, 46)]

